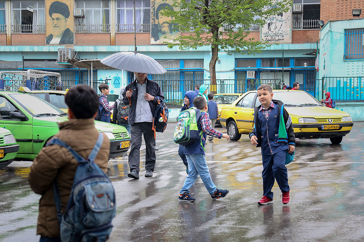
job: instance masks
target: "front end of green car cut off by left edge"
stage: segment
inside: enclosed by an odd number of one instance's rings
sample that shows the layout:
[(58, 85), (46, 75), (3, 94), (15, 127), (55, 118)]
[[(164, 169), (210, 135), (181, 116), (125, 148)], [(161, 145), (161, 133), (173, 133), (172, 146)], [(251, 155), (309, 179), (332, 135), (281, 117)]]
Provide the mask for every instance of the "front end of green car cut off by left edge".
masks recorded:
[(4, 169), (13, 162), (19, 145), (11, 132), (5, 128), (0, 128), (0, 169)]

